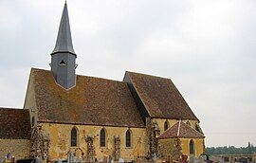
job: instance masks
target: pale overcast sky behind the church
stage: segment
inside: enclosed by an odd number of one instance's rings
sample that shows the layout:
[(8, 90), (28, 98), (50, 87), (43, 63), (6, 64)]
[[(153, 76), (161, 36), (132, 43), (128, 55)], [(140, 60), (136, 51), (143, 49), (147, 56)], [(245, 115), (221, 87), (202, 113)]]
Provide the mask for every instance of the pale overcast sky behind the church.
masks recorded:
[[(207, 146), (256, 145), (255, 0), (68, 0), (67, 7), (78, 74), (170, 78)], [(23, 108), (30, 68), (49, 69), (63, 8), (64, 0), (0, 0), (0, 106)]]

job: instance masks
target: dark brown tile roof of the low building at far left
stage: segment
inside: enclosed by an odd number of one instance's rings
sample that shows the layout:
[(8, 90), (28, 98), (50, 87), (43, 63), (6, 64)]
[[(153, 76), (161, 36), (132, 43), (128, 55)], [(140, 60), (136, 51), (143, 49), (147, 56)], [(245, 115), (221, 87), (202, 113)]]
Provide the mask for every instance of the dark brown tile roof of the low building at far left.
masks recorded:
[(0, 138), (29, 139), (29, 111), (25, 109), (0, 108)]

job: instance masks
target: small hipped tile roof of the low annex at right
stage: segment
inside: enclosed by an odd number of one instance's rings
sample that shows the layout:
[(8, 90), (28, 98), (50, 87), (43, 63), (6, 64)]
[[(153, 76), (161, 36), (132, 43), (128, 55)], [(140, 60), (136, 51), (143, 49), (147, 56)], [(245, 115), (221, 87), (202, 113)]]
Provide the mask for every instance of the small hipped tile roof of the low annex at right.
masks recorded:
[(158, 136), (159, 139), (167, 138), (205, 138), (205, 136), (196, 130), (194, 130), (188, 124), (185, 124), (182, 121), (178, 121), (174, 126), (167, 129), (163, 134)]

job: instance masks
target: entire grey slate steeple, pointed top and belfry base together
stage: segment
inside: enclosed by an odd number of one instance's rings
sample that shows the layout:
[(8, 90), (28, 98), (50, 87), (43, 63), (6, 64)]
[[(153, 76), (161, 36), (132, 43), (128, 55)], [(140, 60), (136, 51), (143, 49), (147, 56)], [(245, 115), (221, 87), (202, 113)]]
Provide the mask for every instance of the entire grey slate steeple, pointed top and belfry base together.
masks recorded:
[(66, 3), (54, 50), (51, 53), (51, 71), (55, 81), (70, 89), (76, 85), (76, 58), (73, 49)]

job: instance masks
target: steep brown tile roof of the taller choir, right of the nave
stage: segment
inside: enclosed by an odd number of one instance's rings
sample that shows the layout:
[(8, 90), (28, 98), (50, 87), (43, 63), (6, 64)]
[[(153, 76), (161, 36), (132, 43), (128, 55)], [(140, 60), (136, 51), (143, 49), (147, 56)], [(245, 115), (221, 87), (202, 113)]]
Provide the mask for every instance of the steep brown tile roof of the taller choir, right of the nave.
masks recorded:
[(170, 79), (134, 72), (126, 76), (151, 117), (198, 120)]

